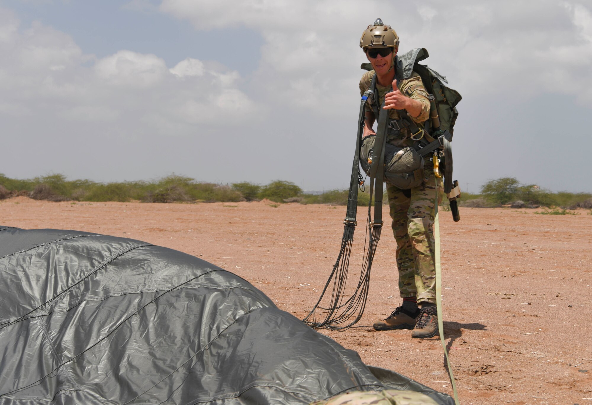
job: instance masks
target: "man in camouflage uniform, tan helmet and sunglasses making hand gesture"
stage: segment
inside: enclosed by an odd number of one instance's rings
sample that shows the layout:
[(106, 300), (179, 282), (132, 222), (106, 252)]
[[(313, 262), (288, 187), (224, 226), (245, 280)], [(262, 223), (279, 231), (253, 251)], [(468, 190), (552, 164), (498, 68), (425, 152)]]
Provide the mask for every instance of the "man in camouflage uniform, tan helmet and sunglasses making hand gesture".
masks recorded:
[[(430, 102), (417, 73), (413, 72), (410, 78), (403, 79), (403, 72), (396, 69), (398, 45), (397, 33), (390, 25), (384, 25), (380, 18), (374, 25), (368, 25), (362, 34), (360, 47), (374, 70), (364, 73), (360, 81), (360, 91), (363, 94), (368, 90), (376, 75), (378, 101), (369, 98), (366, 102), (364, 136), (375, 134), (372, 130), (372, 125), (378, 118), (375, 111), (378, 111), (377, 106), (384, 101), (389, 121), (387, 142), (405, 147), (413, 146), (416, 142), (411, 139), (409, 120), (423, 128), (424, 121), (429, 118)], [(413, 338), (431, 338), (436, 335), (433, 221), (434, 200), (441, 187), (442, 182), (433, 173), (433, 163), (427, 159), (424, 181), (419, 187), (399, 189), (387, 182), (392, 232), (397, 241), (399, 290), (403, 304), (387, 319), (376, 322), (376, 330), (413, 329)]]

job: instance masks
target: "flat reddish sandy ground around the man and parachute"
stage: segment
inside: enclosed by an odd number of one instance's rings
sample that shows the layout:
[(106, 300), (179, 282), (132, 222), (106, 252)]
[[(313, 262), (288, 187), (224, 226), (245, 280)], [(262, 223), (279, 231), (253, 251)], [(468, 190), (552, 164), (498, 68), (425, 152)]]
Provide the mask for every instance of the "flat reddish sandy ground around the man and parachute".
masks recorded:
[[(592, 215), (537, 211), (461, 207), (459, 223), (440, 213), (444, 329), (462, 404), (592, 404)], [(247, 279), (299, 318), (332, 269), (343, 217), (341, 206), (270, 201), (0, 201), (2, 225), (84, 230), (181, 250)], [(360, 209), (354, 269), (364, 218)], [(387, 227), (360, 327), (321, 333), (358, 351), (366, 364), (452, 394), (437, 336), (418, 340), (410, 330), (371, 327), (401, 303), (394, 252)]]

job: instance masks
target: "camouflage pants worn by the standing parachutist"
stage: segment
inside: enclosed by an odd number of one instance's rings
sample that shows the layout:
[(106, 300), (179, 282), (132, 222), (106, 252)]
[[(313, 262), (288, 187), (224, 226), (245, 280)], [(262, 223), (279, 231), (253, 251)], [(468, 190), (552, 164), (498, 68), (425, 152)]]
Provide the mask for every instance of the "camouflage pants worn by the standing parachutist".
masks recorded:
[[(434, 200), (442, 199), (442, 181), (426, 164), (422, 185), (403, 191), (387, 183), (392, 233), (397, 241), (397, 268), (401, 297), (436, 303)], [(407, 195), (405, 195), (407, 194)]]

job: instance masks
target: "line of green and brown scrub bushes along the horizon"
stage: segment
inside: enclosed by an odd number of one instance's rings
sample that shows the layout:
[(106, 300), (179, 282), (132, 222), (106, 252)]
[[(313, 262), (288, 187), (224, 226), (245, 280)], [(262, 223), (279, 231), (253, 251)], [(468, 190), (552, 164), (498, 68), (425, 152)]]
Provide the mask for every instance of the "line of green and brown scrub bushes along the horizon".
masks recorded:
[[(186, 176), (172, 174), (153, 181), (100, 183), (91, 180), (68, 180), (62, 174), (33, 179), (12, 179), (0, 173), (0, 200), (23, 195), (48, 201), (141, 201), (144, 203), (236, 203), (259, 201), (264, 198), (274, 203), (346, 205), (348, 190), (333, 189), (320, 194), (306, 193), (289, 181), (275, 180), (266, 185), (250, 182), (215, 184), (200, 182)], [(368, 188), (358, 192), (358, 205), (368, 205)], [(387, 201), (386, 193), (383, 201)], [(487, 181), (480, 194), (463, 192), (462, 207), (490, 208), (509, 205), (512, 208), (549, 207), (557, 212), (566, 209), (592, 208), (592, 194), (551, 192), (536, 185), (521, 184), (516, 178), (506, 177)], [(448, 200), (442, 199), (443, 208)], [(546, 213), (546, 212), (545, 212)]]

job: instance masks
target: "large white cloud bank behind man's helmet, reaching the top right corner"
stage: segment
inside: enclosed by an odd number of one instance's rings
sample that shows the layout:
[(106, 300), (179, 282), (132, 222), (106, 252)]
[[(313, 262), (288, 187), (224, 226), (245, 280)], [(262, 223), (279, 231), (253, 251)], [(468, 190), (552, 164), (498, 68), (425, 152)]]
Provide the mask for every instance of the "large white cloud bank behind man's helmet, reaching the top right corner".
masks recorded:
[[(397, 30), (401, 51), (426, 47), (432, 54), (426, 62), (466, 95), (576, 95), (580, 89), (573, 83), (591, 56), (592, 18), (581, 4), (427, 1), (416, 7), (380, 1), (163, 0), (160, 10), (191, 21), (198, 30), (243, 25), (259, 31), (266, 44), (256, 80), (268, 89), (268, 97), (283, 93), (288, 99), (295, 97), (297, 105), (311, 89), (323, 89), (323, 81), (329, 105), (351, 97), (349, 89), (335, 84), (348, 79), (355, 88), (361, 75), (354, 73), (355, 67), (363, 62), (357, 39), (376, 17)], [(585, 81), (592, 80), (592, 73), (584, 74)], [(554, 88), (551, 75), (558, 75), (566, 88)], [(301, 92), (296, 95), (298, 88)], [(592, 94), (588, 96), (592, 99)], [(308, 104), (314, 110), (337, 113), (326, 105)]]

